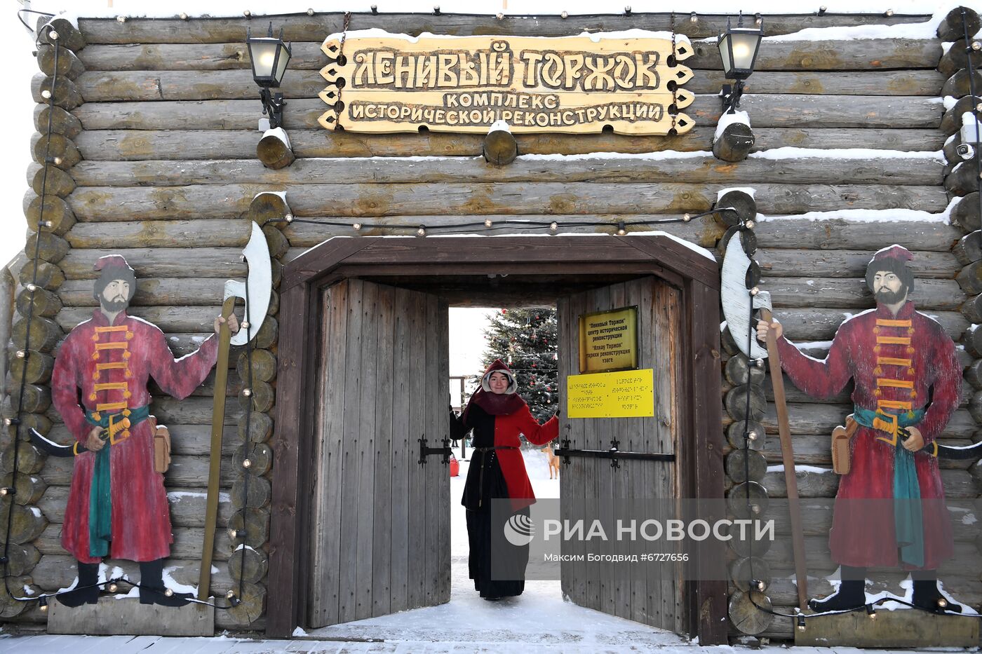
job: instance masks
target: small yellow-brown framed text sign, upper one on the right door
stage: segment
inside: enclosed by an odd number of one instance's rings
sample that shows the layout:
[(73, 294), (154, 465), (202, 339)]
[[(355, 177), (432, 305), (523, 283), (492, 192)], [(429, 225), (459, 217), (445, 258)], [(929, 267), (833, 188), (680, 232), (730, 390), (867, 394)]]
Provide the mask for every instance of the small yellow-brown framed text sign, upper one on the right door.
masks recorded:
[(579, 316), (579, 371), (632, 370), (637, 362), (637, 306)]

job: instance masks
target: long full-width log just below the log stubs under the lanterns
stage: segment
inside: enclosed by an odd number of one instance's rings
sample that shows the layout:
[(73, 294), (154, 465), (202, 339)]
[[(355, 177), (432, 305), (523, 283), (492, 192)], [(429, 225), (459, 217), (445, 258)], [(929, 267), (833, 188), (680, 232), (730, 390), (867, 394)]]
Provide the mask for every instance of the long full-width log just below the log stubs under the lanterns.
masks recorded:
[[(86, 136), (88, 134), (86, 133)], [(84, 143), (84, 137), (80, 142)], [(154, 152), (153, 156), (166, 157), (173, 154), (173, 152)], [(787, 184), (838, 184), (848, 179), (852, 184), (893, 183), (930, 186), (942, 184), (945, 174), (943, 162), (933, 157), (899, 156), (875, 159), (750, 157), (739, 166), (730, 166), (721, 164), (712, 157), (655, 159), (614, 158), (609, 155), (603, 159), (583, 157), (563, 161), (519, 157), (511, 165), (503, 167), (483, 165), (476, 158), (434, 158), (417, 161), (412, 166), (406, 166), (402, 159), (383, 157), (300, 159), (291, 166), (290, 170), (279, 172), (270, 171), (254, 161), (229, 159), (183, 160), (177, 164), (166, 159), (132, 162), (86, 160), (72, 169), (72, 175), (83, 187), (184, 186), (224, 184), (228, 181), (227, 174), (231, 169), (235, 170), (237, 182), (278, 185), (339, 184), (348, 183), (350, 179), (370, 179), (373, 182), (392, 184), (521, 182), (529, 179), (539, 182), (568, 183), (644, 181), (697, 184), (756, 183), (761, 179), (768, 179)], [(267, 196), (271, 197), (263, 199)], [(276, 193), (260, 193), (253, 198), (249, 206), (251, 217), (256, 222), (259, 222), (260, 218), (266, 220), (282, 218), (290, 213), (289, 207)], [(259, 224), (264, 225), (265, 222)], [(278, 227), (286, 227), (283, 222), (274, 224)]]

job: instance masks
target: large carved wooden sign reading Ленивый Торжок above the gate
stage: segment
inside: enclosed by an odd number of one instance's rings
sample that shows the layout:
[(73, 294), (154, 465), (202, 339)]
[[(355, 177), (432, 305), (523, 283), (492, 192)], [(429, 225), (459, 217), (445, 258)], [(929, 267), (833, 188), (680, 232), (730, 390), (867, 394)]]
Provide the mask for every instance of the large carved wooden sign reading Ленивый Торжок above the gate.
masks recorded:
[[(633, 33), (637, 33), (634, 36)], [(382, 35), (380, 35), (380, 33)], [(688, 39), (668, 32), (563, 37), (332, 34), (321, 49), (328, 130), (683, 134), (694, 95)]]

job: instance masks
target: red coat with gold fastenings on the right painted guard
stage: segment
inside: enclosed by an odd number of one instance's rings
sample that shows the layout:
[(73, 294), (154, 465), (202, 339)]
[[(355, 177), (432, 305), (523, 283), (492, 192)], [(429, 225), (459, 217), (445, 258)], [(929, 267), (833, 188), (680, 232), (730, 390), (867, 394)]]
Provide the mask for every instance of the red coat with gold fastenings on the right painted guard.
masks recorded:
[[(832, 397), (851, 377), (856, 407), (926, 409), (914, 425), (926, 445), (938, 437), (958, 406), (961, 366), (955, 344), (940, 324), (915, 311), (911, 301), (896, 316), (880, 304), (846, 320), (824, 361), (801, 354), (786, 339), (780, 339), (778, 347), (785, 372), (810, 396)], [(898, 565), (892, 510), (894, 443), (887, 431), (863, 426), (850, 442), (851, 469), (840, 481), (829, 535), (832, 558), (840, 564)], [(923, 568), (932, 570), (953, 554), (952, 525), (944, 508), (938, 460), (922, 450), (914, 462), (923, 501)], [(881, 501), (856, 501), (862, 499)]]

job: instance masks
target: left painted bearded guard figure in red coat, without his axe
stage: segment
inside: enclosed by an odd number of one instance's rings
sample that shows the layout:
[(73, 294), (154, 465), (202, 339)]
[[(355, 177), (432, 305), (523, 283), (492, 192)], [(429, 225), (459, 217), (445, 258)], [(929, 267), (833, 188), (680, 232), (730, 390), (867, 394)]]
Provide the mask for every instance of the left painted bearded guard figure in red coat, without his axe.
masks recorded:
[[(95, 270), (99, 307), (62, 343), (51, 378), (52, 402), (77, 441), (62, 547), (78, 561), (79, 581), (58, 600), (96, 603), (99, 562), (113, 558), (139, 563), (140, 603), (183, 606), (191, 594), (168, 596), (163, 583), (174, 537), (163, 474), (154, 468), (146, 384), (152, 376), (172, 397), (188, 397), (215, 364), (218, 339), (175, 360), (159, 328), (126, 312), (136, 293), (126, 259), (103, 256)], [(234, 315), (228, 323), (238, 331)]]

